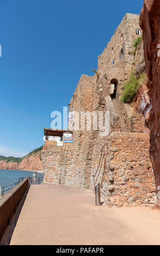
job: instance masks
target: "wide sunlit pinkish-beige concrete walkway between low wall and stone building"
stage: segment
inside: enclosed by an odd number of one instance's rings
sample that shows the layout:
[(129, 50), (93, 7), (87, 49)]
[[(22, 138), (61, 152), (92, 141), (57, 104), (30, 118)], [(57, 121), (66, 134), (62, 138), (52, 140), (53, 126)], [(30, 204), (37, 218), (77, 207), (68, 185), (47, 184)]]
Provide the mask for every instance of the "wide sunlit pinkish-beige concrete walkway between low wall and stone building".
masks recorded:
[(160, 211), (95, 206), (91, 191), (31, 185), (10, 245), (160, 245)]

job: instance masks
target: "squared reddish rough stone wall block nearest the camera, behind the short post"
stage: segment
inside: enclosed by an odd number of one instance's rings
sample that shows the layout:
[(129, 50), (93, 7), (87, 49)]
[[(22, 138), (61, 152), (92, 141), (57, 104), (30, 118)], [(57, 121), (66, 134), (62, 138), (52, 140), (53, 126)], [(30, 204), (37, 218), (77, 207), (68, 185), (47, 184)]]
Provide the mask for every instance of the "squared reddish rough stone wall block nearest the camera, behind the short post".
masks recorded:
[(149, 135), (111, 133), (102, 179), (102, 197), (109, 206), (153, 205), (157, 202), (149, 149)]

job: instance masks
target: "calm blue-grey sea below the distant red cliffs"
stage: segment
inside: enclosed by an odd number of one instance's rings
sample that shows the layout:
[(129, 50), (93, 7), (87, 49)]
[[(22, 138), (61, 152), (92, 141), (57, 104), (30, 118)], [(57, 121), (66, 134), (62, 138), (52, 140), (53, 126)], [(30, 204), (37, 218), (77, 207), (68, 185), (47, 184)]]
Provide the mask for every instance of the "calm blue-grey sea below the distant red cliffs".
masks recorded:
[[(19, 180), (21, 177), (27, 178), (30, 176), (32, 178), (34, 172), (30, 172), (28, 170), (4, 170), (0, 169), (0, 186), (8, 186), (13, 184)], [(36, 172), (37, 177), (44, 177), (44, 173)]]

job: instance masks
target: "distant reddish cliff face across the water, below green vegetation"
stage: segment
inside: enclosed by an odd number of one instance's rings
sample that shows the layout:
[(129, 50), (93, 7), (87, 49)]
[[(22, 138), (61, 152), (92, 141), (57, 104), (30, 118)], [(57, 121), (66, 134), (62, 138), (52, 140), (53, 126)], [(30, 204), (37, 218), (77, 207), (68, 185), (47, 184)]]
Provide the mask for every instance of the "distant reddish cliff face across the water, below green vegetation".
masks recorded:
[(40, 151), (36, 153), (33, 151), (33, 153), (24, 156), (20, 160), (14, 159), (13, 161), (9, 161), (7, 157), (3, 157), (3, 160), (0, 161), (0, 169), (43, 170), (44, 168), (40, 160)]

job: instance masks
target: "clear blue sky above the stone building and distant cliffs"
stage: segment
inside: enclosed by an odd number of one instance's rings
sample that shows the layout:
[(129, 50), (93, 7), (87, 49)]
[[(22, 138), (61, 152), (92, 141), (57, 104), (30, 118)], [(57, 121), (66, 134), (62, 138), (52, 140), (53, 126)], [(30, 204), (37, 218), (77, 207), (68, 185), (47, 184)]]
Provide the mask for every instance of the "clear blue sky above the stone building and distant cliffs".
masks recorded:
[(82, 74), (126, 13), (143, 0), (0, 0), (0, 155), (21, 157), (44, 144), (51, 112), (63, 111)]

